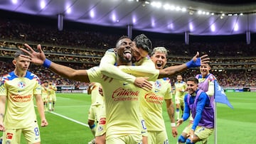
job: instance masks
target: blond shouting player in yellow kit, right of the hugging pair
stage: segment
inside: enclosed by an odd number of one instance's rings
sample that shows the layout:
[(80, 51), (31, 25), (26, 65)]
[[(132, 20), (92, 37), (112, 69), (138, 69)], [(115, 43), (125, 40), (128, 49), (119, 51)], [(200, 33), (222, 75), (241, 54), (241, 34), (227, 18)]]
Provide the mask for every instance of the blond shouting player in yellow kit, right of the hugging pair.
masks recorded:
[[(154, 48), (151, 60), (157, 70), (163, 69), (167, 62), (166, 48)], [(163, 78), (157, 79), (153, 84), (153, 89), (150, 92), (146, 92), (141, 100), (140, 109), (146, 123), (149, 144), (169, 143), (162, 110), (164, 101), (171, 121), (172, 135), (174, 137), (178, 135), (174, 117), (174, 103), (171, 99), (171, 81), (169, 78)]]

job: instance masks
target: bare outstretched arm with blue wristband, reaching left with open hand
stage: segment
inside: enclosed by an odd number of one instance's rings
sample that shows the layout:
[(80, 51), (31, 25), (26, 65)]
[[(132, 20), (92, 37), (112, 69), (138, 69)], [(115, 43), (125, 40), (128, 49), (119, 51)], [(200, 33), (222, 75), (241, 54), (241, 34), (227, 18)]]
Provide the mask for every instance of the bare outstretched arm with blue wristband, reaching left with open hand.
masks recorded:
[(90, 82), (87, 71), (86, 70), (74, 70), (71, 67), (66, 67), (64, 65), (56, 64), (55, 62), (51, 62), (46, 59), (46, 55), (41, 49), (41, 45), (38, 45), (38, 52), (33, 50), (28, 44), (25, 44), (26, 48), (29, 50), (25, 50), (21, 48), (23, 52), (26, 52), (28, 55), (21, 55), (22, 57), (29, 58), (31, 62), (36, 65), (43, 65), (44, 67), (48, 67), (51, 71), (59, 74), (62, 77), (66, 77), (68, 79), (77, 80), (80, 82)]

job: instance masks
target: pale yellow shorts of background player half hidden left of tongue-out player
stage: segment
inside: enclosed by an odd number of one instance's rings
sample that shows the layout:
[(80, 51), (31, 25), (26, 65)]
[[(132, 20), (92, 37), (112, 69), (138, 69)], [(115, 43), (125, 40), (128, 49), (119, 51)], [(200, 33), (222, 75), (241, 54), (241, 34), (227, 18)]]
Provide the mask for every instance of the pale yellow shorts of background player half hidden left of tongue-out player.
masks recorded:
[(89, 109), (89, 114), (88, 114), (88, 119), (92, 120), (92, 121), (96, 121), (96, 123), (98, 123), (98, 121), (100, 120), (100, 115), (104, 115), (104, 113), (102, 113), (102, 109), (105, 109), (104, 106), (102, 106), (101, 104), (99, 105), (91, 105), (90, 109)]

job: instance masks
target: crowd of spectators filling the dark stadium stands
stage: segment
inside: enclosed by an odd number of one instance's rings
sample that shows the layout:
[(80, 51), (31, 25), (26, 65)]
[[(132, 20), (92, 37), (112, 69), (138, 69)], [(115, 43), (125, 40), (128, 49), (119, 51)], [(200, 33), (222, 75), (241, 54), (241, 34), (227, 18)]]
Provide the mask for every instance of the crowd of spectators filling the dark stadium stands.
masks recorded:
[[(11, 58), (23, 43), (36, 48), (41, 43), (46, 57), (55, 62), (62, 62), (75, 69), (88, 69), (98, 65), (108, 48), (114, 48), (121, 35), (98, 31), (86, 31), (78, 28), (57, 28), (41, 23), (31, 23), (15, 19), (0, 20), (0, 65), (1, 75), (9, 72), (13, 65)], [(220, 85), (227, 87), (255, 87), (256, 43), (191, 43), (151, 38), (154, 46), (164, 46), (169, 50), (168, 65), (187, 62), (197, 51), (211, 58), (213, 74)], [(86, 85), (59, 77), (43, 67), (31, 65), (31, 71), (43, 80), (53, 79), (57, 85)], [(187, 70), (183, 77), (198, 74), (198, 70)], [(175, 82), (173, 77), (173, 82)]]

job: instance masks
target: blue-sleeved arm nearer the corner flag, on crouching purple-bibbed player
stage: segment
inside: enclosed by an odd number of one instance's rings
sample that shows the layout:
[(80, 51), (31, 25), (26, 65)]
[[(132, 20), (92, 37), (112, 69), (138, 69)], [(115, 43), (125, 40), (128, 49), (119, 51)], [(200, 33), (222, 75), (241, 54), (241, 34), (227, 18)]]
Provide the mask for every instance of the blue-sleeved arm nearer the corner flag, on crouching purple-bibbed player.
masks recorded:
[(206, 106), (206, 103), (210, 104), (210, 100), (208, 99), (206, 93), (202, 92), (196, 105), (196, 116), (193, 120), (193, 126), (191, 128), (193, 131), (196, 131), (196, 126), (198, 126), (199, 121), (201, 121), (203, 108)]

